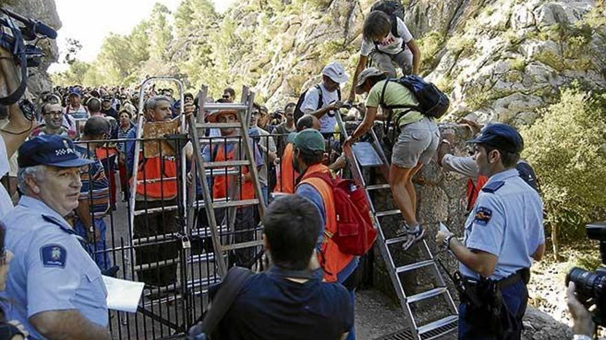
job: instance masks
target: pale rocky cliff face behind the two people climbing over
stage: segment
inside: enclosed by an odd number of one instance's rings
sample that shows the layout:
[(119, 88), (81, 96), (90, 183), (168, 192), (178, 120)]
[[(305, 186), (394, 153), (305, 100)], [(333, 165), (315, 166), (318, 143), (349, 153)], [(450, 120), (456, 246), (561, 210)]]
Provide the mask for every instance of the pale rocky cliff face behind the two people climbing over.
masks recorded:
[[(306, 1), (271, 16), (231, 10), (226, 18), (240, 23), (236, 36), (263, 21), (275, 29), (262, 52), (244, 50), (232, 74), (258, 80), (255, 89), (269, 105), (282, 106), (316, 82), (330, 60), (353, 73), (373, 2)], [(527, 124), (566, 84), (606, 84), (605, 7), (593, 0), (411, 0), (406, 23), (424, 53), (424, 76), (452, 98), (450, 117), (475, 112)]]

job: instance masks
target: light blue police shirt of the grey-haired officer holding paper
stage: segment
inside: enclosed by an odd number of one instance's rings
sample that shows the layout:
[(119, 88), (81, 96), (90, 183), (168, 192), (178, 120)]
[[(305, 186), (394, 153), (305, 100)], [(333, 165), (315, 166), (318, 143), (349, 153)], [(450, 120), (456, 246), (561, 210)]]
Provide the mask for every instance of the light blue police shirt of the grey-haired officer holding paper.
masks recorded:
[(62, 216), (43, 201), (22, 196), (1, 218), (6, 225), (6, 249), (14, 253), (1, 296), (6, 319), (17, 320), (44, 339), (30, 324), (33, 315), (49, 310), (76, 309), (101, 327), (107, 327), (107, 291), (95, 262), (81, 246)]

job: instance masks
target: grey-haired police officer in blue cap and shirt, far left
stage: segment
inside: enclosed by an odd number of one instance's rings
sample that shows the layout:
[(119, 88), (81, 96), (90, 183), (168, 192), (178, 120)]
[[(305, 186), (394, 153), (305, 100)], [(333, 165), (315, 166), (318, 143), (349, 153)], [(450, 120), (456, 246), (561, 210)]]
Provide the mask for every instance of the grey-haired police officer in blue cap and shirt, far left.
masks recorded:
[(2, 222), (14, 253), (3, 297), (28, 339), (109, 339), (101, 272), (64, 217), (78, 206), (81, 159), (70, 139), (43, 135), (19, 148), (23, 196)]

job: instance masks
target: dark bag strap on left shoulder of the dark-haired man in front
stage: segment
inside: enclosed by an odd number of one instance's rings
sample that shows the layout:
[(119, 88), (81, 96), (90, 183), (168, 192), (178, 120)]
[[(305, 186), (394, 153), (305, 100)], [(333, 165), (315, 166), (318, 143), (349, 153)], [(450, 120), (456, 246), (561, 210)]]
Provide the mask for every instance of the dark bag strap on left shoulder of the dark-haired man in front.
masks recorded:
[[(242, 267), (232, 267), (229, 269), (219, 290), (213, 298), (211, 308), (202, 322), (189, 330), (188, 339), (189, 337), (200, 334), (200, 332), (211, 335), (213, 330), (219, 325), (219, 322), (227, 314), (227, 311), (231, 308), (233, 302), (236, 301), (236, 297), (242, 290), (244, 282), (252, 275), (254, 275), (254, 273), (250, 269)], [(195, 338), (192, 337), (191, 339)]]

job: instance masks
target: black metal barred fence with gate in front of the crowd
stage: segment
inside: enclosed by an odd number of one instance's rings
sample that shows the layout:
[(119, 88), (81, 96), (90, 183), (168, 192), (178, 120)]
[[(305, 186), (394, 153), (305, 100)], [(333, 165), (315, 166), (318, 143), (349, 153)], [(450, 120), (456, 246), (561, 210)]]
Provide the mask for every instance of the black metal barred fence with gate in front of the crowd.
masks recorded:
[[(329, 150), (335, 150), (335, 159), (338, 135), (326, 137)], [(271, 192), (282, 191), (284, 179), (290, 177), (290, 183), (296, 179), (292, 166), (286, 167), (289, 171), (280, 171), (284, 169), (280, 164), (286, 138), (253, 136), (258, 149), (255, 153), (262, 158), (257, 163), (266, 203)], [(201, 137), (202, 156), (205, 161), (218, 160), (222, 149), (224, 158), (242, 160), (245, 153), (241, 141), (241, 137)], [(82, 227), (83, 216), (79, 214), (72, 216), (76, 232), (89, 241), (88, 250), (102, 271), (114, 271), (120, 279), (145, 282), (137, 313), (109, 311), (114, 339), (182, 338), (202, 317), (209, 302), (209, 288), (221, 280), (207, 223), (205, 204), (209, 202), (202, 194), (200, 180), (209, 184), (213, 203), (246, 199), (250, 187), (242, 174), (247, 168), (209, 168), (206, 179), (199, 179), (188, 143), (185, 135), (138, 142), (118, 139), (77, 143), (87, 150), (85, 155), (103, 164), (107, 180), (95, 172), (94, 166), (83, 170), (88, 187), (81, 200), (86, 197), (90, 203), (96, 236)], [(140, 147), (139, 169), (135, 171), (138, 177), (127, 166), (127, 159), (132, 159), (128, 150), (135, 146)], [(134, 181), (137, 190), (132, 193), (128, 188)], [(104, 185), (109, 187), (109, 197), (104, 194)], [(222, 207), (214, 212), (223, 245), (260, 240), (260, 214), (254, 206)], [(222, 256), (228, 268), (240, 265), (260, 271), (264, 269), (262, 255), (263, 250), (257, 246)]]

